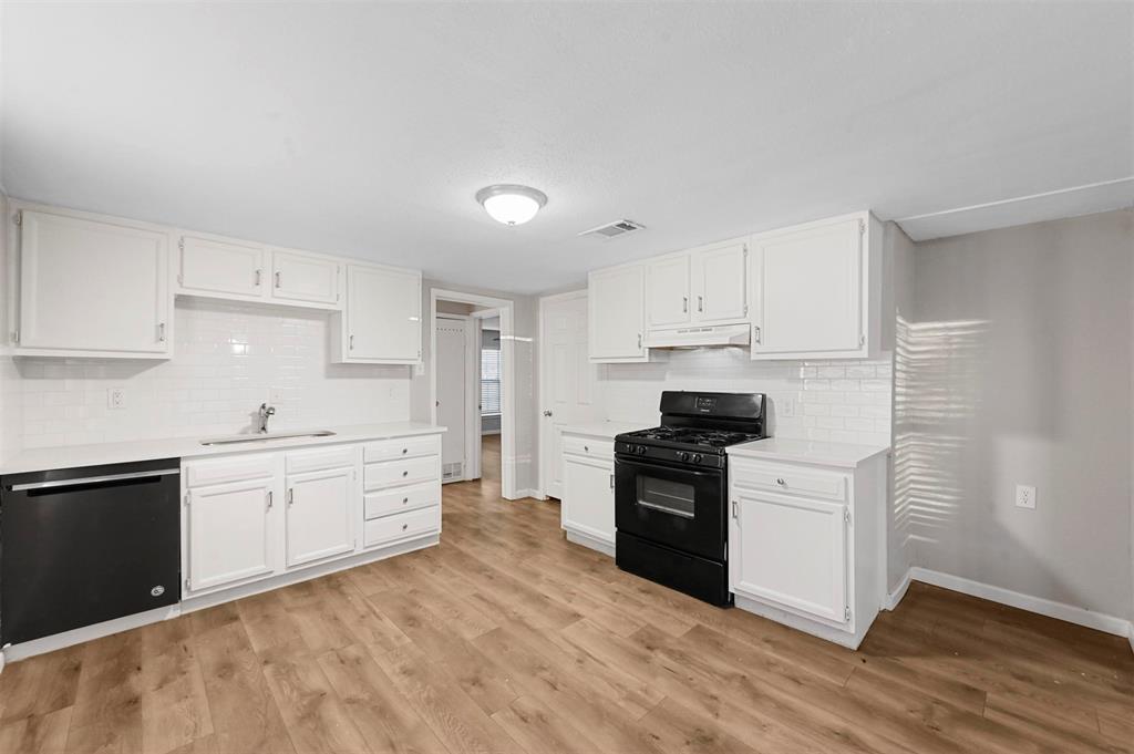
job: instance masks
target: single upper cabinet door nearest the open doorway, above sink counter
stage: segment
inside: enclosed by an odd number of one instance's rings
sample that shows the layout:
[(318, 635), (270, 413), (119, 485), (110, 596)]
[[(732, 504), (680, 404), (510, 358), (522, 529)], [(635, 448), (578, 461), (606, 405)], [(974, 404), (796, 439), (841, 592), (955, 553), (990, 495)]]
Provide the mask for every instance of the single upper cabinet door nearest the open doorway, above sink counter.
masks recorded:
[(344, 361), (417, 363), (421, 298), (420, 273), (347, 265)]

